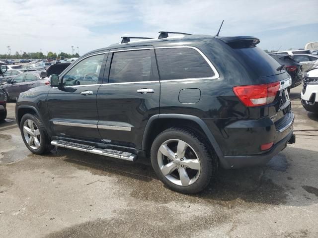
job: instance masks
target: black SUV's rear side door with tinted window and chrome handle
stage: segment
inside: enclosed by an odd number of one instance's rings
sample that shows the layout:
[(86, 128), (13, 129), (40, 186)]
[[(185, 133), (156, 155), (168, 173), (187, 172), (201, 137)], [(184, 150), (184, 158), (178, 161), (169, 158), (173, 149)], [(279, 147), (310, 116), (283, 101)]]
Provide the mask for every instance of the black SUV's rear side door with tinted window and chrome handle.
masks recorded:
[(159, 114), (160, 83), (153, 47), (109, 52), (97, 95), (104, 142), (141, 148), (150, 117)]

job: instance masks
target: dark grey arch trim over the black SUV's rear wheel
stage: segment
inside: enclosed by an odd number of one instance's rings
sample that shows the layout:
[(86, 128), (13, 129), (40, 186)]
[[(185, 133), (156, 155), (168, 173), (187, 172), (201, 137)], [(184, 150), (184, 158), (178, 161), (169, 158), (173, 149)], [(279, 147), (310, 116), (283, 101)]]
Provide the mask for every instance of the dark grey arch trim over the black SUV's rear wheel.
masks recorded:
[[(176, 123), (178, 122), (178, 123)], [(184, 114), (159, 114), (152, 116), (145, 127), (143, 139), (142, 139), (142, 150), (147, 151), (151, 147), (155, 137), (164, 129), (171, 126), (188, 126), (199, 129), (201, 133), (208, 139), (208, 142), (215, 150), (217, 156), (220, 160), (223, 158), (222, 150), (217, 143), (212, 132), (204, 123), (204, 121), (193, 115), (184, 115)]]

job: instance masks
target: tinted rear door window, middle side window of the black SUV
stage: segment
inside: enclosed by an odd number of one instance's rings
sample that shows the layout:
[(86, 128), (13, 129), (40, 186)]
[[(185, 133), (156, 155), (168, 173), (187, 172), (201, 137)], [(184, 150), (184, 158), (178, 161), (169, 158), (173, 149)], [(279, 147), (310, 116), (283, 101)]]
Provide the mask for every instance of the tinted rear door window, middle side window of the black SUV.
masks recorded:
[(150, 50), (113, 53), (109, 83), (139, 82), (153, 80)]

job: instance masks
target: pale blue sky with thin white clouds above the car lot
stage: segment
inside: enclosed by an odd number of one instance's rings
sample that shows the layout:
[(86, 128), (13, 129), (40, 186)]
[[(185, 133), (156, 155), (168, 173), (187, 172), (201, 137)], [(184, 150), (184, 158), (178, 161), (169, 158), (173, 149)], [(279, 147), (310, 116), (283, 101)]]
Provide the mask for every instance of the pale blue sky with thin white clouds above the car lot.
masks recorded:
[(79, 55), (123, 35), (177, 31), (255, 36), (267, 50), (318, 41), (318, 0), (1, 0), (0, 54), (60, 51)]

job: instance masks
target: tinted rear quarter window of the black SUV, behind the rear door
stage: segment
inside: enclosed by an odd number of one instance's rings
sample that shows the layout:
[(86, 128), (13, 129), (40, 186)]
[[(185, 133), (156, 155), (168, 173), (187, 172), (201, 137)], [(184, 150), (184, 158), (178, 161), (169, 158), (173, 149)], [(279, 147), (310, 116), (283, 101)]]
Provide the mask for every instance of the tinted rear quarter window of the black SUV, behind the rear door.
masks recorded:
[(206, 60), (191, 48), (156, 49), (161, 80), (213, 77)]

